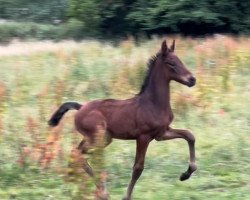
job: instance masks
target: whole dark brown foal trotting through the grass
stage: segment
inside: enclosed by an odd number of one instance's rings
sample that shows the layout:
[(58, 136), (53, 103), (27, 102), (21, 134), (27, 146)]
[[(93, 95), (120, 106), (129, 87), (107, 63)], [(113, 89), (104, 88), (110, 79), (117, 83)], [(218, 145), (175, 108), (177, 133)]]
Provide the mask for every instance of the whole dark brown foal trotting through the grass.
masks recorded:
[[(84, 140), (78, 146), (82, 153), (87, 153), (88, 149), (94, 146), (105, 147), (112, 142), (112, 138), (136, 140), (132, 179), (124, 200), (131, 199), (135, 183), (144, 168), (148, 145), (152, 140), (183, 138), (188, 142), (190, 163), (187, 171), (181, 174), (181, 181), (188, 179), (197, 169), (195, 137), (188, 130), (170, 127), (174, 118), (170, 106), (170, 81), (175, 80), (188, 87), (194, 86), (196, 82), (174, 50), (175, 41), (170, 48), (166, 41), (163, 41), (160, 51), (149, 61), (148, 73), (141, 91), (133, 98), (96, 100), (84, 105), (66, 102), (49, 120), (49, 125), (56, 126), (68, 110), (79, 110), (75, 115), (75, 126), (84, 136)], [(94, 176), (87, 161), (84, 169), (89, 175)]]

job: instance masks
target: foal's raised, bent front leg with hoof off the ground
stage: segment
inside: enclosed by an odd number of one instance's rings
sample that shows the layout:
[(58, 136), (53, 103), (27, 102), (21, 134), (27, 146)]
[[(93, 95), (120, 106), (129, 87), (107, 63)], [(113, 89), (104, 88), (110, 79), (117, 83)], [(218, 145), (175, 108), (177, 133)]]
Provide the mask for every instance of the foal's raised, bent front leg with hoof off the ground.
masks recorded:
[(189, 156), (190, 156), (189, 167), (188, 167), (187, 171), (184, 172), (180, 176), (180, 180), (185, 181), (197, 169), (197, 166), (195, 163), (195, 137), (194, 137), (194, 135), (188, 130), (170, 128), (164, 134), (155, 138), (155, 140), (162, 141), (162, 140), (172, 140), (172, 139), (176, 139), (176, 138), (185, 139), (188, 142), (188, 146), (189, 146)]

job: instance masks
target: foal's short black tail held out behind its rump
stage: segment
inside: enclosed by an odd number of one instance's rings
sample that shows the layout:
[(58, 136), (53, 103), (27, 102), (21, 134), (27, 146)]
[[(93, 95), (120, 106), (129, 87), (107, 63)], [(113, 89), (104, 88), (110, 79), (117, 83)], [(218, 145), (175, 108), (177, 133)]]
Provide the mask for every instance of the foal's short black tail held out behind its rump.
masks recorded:
[(52, 115), (50, 120), (48, 121), (48, 124), (50, 126), (57, 126), (60, 120), (62, 119), (63, 115), (68, 111), (68, 110), (79, 110), (81, 108), (81, 104), (77, 102), (66, 102), (58, 108), (58, 110)]

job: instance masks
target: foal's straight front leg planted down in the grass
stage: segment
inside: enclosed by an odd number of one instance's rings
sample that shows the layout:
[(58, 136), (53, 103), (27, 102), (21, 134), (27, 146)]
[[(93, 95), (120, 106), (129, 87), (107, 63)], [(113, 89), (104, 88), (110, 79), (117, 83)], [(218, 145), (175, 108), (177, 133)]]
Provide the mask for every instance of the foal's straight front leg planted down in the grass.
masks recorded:
[(135, 186), (136, 181), (142, 174), (144, 169), (144, 161), (147, 152), (148, 145), (152, 139), (147, 136), (141, 136), (136, 140), (136, 156), (135, 156), (135, 163), (133, 167), (133, 173), (131, 181), (128, 185), (127, 195), (123, 200), (131, 200), (132, 192)]

